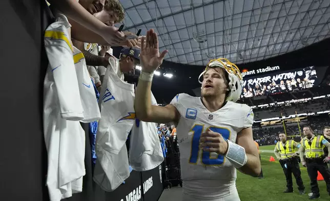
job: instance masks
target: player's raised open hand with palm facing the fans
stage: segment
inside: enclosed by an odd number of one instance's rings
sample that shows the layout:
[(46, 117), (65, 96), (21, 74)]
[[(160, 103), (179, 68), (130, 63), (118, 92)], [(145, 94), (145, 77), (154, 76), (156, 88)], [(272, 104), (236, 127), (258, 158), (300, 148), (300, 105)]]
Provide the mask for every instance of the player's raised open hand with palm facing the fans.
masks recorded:
[(163, 62), (168, 51), (159, 54), (158, 36), (153, 29), (147, 31), (147, 36), (141, 38), (140, 63), (142, 71), (154, 72)]

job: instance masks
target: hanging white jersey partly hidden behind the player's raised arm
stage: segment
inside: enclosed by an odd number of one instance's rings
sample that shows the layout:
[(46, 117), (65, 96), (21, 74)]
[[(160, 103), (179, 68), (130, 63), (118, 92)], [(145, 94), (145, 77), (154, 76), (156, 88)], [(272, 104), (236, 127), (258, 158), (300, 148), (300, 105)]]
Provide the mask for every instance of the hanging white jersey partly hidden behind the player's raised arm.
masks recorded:
[[(158, 105), (151, 93), (151, 104)], [(157, 124), (135, 120), (130, 136), (129, 162), (135, 171), (152, 170), (164, 160)]]

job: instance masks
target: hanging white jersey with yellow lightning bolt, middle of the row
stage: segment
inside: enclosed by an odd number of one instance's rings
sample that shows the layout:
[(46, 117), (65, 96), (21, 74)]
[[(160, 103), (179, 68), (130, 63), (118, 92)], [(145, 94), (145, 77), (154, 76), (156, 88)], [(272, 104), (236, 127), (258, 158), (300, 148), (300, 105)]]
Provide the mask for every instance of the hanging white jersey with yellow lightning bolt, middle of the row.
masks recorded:
[(115, 190), (130, 175), (126, 140), (135, 120), (134, 85), (122, 81), (110, 65), (100, 93), (94, 181)]

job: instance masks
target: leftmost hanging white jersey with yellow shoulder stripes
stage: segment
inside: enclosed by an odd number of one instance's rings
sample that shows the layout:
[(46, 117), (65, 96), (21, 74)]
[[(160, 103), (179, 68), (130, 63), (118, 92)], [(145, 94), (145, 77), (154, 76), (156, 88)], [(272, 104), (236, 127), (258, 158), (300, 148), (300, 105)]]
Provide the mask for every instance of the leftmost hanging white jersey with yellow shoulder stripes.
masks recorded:
[[(45, 31), (49, 65), (44, 81), (44, 135), (51, 201), (81, 192), (85, 175), (85, 131), (79, 120), (88, 122), (100, 117), (95, 92), (92, 97), (79, 86), (80, 82), (88, 84), (84, 56), (71, 45), (67, 18), (62, 14), (57, 16), (56, 22)], [(78, 60), (73, 51), (80, 57)], [(91, 111), (89, 107), (96, 110)]]

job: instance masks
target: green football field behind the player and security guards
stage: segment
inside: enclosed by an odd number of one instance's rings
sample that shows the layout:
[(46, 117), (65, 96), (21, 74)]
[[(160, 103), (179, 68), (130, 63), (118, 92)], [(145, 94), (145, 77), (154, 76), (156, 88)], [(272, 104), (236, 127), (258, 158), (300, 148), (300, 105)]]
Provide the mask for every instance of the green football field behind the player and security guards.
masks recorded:
[[(299, 195), (299, 191), (297, 189), (297, 184), (295, 177), (293, 177), (293, 193), (282, 193), (283, 190), (286, 189), (286, 181), (283, 170), (276, 160), (276, 162), (269, 162), (271, 156), (275, 158), (273, 150), (275, 145), (271, 146), (262, 146), (260, 147), (261, 154), (261, 168), (263, 171), (264, 178), (258, 179), (248, 175), (244, 175), (237, 171), (237, 190), (239, 192), (239, 196), (241, 201), (266, 201), (266, 200), (285, 200), (285, 201), (294, 201), (294, 200), (310, 200), (308, 199), (308, 193), (311, 192), (310, 187), (310, 178), (307, 174), (307, 169), (302, 167), (300, 164), (301, 177), (304, 182), (305, 191), (304, 195)], [(330, 196), (326, 192), (325, 182), (319, 181), (319, 188), (321, 193), (321, 198), (316, 199), (320, 201), (329, 201)]]

